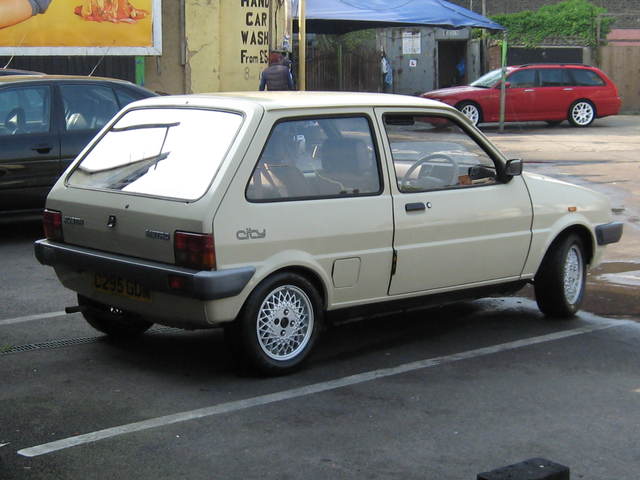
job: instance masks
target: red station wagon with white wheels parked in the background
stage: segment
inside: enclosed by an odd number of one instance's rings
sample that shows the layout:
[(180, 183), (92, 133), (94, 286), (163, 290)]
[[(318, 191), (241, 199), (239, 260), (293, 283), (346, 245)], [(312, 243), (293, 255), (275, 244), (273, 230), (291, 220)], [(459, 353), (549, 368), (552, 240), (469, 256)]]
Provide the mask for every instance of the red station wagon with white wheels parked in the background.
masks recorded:
[[(464, 113), (474, 125), (500, 120), (502, 70), (493, 70), (467, 86), (422, 94)], [(579, 64), (529, 64), (507, 67), (505, 121), (563, 120), (586, 127), (595, 118), (616, 115), (618, 88), (602, 70)]]

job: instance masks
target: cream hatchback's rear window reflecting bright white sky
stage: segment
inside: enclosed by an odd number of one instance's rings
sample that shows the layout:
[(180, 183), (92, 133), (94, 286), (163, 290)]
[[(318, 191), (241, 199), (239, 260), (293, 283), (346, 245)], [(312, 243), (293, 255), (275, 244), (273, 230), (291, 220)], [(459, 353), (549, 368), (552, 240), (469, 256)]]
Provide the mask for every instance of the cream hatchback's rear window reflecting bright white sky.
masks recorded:
[(93, 146), (71, 186), (196, 200), (207, 191), (242, 115), (193, 108), (127, 112)]

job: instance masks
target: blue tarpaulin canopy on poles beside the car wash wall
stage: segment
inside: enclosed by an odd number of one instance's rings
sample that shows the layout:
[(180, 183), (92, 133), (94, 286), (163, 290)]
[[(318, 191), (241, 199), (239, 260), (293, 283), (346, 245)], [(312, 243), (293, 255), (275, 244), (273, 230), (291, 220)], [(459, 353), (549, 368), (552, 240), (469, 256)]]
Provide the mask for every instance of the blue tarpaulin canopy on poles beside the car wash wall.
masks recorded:
[[(307, 32), (345, 33), (363, 28), (429, 25), (504, 30), (486, 17), (444, 0), (305, 0)], [(293, 0), (297, 19), (298, 0)]]

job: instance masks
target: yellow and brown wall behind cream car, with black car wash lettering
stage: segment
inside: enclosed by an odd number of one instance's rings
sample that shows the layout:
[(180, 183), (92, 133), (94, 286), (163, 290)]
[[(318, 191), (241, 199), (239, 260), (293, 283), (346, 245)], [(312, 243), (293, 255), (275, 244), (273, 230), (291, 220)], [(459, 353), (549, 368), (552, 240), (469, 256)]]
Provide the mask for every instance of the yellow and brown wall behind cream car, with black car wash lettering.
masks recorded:
[[(274, 48), (282, 43), (284, 1), (185, 0), (181, 29), (179, 2), (165, 0), (163, 55), (146, 60), (147, 88), (168, 93), (257, 90), (268, 65), (270, 37)], [(183, 32), (185, 64), (176, 65)]]

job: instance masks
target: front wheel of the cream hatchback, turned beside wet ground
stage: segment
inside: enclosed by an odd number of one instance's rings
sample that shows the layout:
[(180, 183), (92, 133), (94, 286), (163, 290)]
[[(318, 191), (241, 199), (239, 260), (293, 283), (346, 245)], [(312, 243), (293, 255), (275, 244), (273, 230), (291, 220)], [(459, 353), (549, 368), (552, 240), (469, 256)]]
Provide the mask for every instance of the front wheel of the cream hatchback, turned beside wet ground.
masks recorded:
[(570, 318), (580, 309), (587, 284), (582, 239), (575, 234), (556, 240), (534, 279), (536, 302), (548, 317)]

